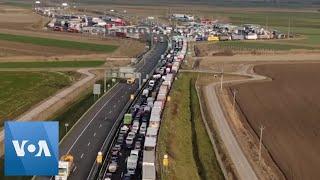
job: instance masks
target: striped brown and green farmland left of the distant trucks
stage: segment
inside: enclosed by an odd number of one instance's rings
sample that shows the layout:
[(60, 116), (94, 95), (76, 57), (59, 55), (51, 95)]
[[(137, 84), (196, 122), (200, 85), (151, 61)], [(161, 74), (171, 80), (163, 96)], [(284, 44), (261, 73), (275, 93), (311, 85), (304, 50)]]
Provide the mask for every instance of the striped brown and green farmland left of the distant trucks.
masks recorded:
[[(12, 3), (20, 2), (22, 1), (12, 1)], [(143, 42), (131, 39), (113, 37), (101, 39), (77, 33), (51, 32), (44, 29), (49, 20), (33, 13), (31, 6), (21, 8), (10, 3), (0, 3), (0, 58), (10, 60), (12, 57), (23, 56), (26, 59), (45, 60), (55, 57), (67, 59), (65, 55), (88, 54), (96, 55), (93, 59), (135, 57), (145, 48)], [(101, 55), (104, 57), (101, 58)]]

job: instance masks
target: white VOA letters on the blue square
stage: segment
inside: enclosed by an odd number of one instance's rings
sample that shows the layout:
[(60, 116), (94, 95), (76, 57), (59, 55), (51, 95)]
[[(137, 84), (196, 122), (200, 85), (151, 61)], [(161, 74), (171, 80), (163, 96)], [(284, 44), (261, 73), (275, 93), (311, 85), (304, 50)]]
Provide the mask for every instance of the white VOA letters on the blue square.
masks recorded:
[[(12, 144), (14, 146), (14, 149), (17, 153), (17, 156), (19, 157), (23, 157), (25, 155), (25, 151), (24, 151), (24, 147), (25, 145), (27, 144), (28, 140), (23, 140), (21, 142), (21, 144), (19, 144), (19, 141), (18, 140), (13, 140), (12, 141)], [(51, 153), (49, 151), (49, 148), (48, 148), (48, 144), (45, 140), (40, 140), (38, 142), (38, 147), (39, 147), (39, 151), (38, 153), (35, 155), (35, 156), (41, 156), (41, 154), (43, 153), (44, 156), (51, 156)], [(36, 146), (34, 144), (29, 144), (27, 146), (27, 150), (30, 152), (30, 153), (34, 153), (36, 151)]]

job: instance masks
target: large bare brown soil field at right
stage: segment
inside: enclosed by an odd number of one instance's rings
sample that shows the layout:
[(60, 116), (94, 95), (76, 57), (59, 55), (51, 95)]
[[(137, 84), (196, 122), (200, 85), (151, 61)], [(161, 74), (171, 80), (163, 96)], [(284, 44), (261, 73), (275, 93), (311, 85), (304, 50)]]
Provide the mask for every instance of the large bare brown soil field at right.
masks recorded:
[(287, 179), (319, 179), (320, 63), (254, 67), (272, 81), (234, 85), (243, 120), (259, 136)]

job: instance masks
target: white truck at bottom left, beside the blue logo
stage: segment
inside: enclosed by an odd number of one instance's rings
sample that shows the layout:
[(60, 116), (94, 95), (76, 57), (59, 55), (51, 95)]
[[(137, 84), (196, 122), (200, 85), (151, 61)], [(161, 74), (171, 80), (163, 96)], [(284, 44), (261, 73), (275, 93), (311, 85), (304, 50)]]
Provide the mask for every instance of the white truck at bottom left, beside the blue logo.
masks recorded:
[(67, 180), (73, 167), (73, 156), (71, 154), (63, 155), (59, 161), (59, 173), (55, 176), (55, 180)]

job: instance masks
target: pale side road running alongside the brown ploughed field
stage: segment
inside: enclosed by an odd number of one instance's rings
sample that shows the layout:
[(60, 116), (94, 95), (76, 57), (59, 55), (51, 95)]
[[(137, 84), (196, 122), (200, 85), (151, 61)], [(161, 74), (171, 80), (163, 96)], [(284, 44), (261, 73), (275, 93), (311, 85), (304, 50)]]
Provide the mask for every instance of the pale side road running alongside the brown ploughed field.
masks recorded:
[[(251, 71), (249, 73), (249, 71)], [(233, 73), (235, 75), (247, 75), (250, 76), (251, 79), (245, 80), (230, 80), (225, 81), (224, 83), (243, 83), (247, 81), (253, 80), (263, 80), (266, 79), (264, 76), (256, 75), (252, 73), (252, 69), (250, 66), (243, 68), (241, 71), (237, 73)], [(212, 83), (208, 86), (204, 87), (204, 95), (208, 98), (208, 108), (209, 113), (214, 118), (215, 124), (217, 125), (218, 133), (224, 142), (226, 147), (227, 153), (229, 154), (233, 164), (235, 165), (236, 171), (240, 176), (240, 179), (243, 180), (257, 180), (258, 177), (249, 163), (247, 157), (245, 156), (244, 152), (242, 151), (235, 135), (233, 134), (228, 121), (224, 115), (220, 102), (218, 100), (217, 94), (219, 93), (219, 86), (220, 83)]]

